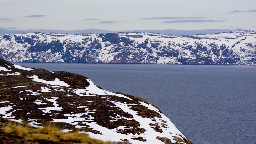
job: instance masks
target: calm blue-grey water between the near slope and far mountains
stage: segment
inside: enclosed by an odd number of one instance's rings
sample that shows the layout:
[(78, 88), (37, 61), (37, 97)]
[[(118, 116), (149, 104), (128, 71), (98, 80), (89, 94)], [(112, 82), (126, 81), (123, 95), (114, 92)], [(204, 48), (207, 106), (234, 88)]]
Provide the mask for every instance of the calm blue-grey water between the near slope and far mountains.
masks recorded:
[(152, 102), (194, 144), (256, 143), (256, 66), (15, 64), (84, 75)]

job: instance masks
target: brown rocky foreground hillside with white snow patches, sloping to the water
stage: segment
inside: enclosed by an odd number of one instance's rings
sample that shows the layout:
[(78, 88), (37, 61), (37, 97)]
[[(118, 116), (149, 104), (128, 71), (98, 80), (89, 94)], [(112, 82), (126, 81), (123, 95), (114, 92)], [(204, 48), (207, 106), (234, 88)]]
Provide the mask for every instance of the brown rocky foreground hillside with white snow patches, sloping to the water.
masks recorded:
[(0, 59), (0, 117), (132, 144), (192, 144), (158, 107), (101, 89), (85, 76)]

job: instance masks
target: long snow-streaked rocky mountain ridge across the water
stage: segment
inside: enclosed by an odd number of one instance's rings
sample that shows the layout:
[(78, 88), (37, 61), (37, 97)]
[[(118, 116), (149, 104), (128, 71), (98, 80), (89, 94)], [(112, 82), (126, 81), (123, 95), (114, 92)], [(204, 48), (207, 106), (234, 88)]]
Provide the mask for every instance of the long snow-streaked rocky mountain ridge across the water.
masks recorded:
[(0, 58), (12, 62), (256, 65), (256, 32), (8, 34), (0, 37)]

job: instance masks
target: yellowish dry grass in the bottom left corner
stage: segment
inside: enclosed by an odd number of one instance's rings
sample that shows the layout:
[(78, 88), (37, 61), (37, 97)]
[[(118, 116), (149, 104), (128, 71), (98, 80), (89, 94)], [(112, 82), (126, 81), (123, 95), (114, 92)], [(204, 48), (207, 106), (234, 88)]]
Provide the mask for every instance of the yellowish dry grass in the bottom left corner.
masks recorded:
[(23, 124), (7, 124), (2, 127), (6, 135), (25, 138), (28, 142), (41, 144), (112, 144), (88, 137), (87, 134), (78, 132), (61, 132), (55, 127), (34, 128)]

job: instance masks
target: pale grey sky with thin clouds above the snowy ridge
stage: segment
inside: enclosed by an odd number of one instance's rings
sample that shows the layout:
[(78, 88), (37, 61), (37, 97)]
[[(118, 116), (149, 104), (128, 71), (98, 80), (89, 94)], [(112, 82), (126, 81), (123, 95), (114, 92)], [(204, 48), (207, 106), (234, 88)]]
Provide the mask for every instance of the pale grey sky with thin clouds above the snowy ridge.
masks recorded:
[(256, 0), (0, 0), (0, 34), (256, 30), (255, 6)]

